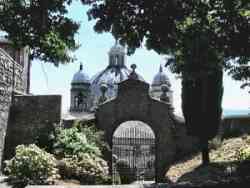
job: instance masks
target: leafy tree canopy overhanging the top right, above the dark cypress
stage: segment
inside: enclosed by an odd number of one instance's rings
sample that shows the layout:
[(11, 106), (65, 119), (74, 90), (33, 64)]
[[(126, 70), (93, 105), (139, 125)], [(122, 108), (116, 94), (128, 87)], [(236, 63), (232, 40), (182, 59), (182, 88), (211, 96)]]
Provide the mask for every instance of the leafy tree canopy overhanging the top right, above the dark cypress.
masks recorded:
[[(196, 79), (207, 74), (206, 66), (223, 66), (233, 75), (239, 72), (237, 65), (249, 67), (249, 1), (82, 2), (90, 5), (88, 15), (96, 20), (95, 31), (111, 32), (120, 43), (127, 44), (129, 54), (146, 44), (159, 54), (173, 55), (175, 61), (170, 67), (175, 73), (187, 72)], [(248, 68), (248, 81), (249, 76)]]

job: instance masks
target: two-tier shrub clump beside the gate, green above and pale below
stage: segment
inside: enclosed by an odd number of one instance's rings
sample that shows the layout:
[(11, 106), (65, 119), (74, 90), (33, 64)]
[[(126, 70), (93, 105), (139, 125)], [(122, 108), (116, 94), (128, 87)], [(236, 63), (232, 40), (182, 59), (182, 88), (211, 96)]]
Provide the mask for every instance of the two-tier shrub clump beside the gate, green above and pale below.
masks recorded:
[(61, 158), (59, 171), (64, 178), (76, 178), (82, 184), (103, 184), (110, 179), (102, 157), (105, 144), (102, 132), (76, 123), (70, 129), (58, 129), (54, 153)]

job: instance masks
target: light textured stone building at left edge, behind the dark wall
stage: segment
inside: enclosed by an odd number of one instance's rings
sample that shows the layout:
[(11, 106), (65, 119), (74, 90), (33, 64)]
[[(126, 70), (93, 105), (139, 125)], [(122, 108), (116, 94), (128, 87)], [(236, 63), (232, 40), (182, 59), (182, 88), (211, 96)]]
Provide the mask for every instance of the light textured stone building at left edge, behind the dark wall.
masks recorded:
[(29, 49), (14, 49), (10, 41), (0, 38), (0, 160), (13, 96), (29, 91)]

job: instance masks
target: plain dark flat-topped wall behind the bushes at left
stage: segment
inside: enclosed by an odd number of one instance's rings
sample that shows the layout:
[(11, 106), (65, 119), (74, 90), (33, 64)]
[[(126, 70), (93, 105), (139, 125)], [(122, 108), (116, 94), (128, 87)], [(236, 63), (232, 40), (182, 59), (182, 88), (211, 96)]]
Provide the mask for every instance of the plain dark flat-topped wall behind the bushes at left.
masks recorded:
[(31, 144), (42, 133), (53, 130), (61, 119), (61, 96), (15, 96), (10, 108), (4, 159), (14, 155), (19, 144)]

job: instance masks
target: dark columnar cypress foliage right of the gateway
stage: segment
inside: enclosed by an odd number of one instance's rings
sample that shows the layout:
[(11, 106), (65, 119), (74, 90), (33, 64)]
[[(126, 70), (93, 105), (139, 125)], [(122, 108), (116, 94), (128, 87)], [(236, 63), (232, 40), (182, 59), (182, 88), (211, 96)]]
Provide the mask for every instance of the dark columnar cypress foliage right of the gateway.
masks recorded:
[(222, 70), (196, 80), (183, 78), (182, 111), (190, 135), (208, 140), (217, 134), (222, 95)]

